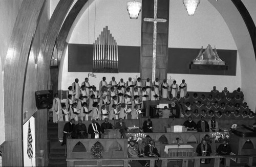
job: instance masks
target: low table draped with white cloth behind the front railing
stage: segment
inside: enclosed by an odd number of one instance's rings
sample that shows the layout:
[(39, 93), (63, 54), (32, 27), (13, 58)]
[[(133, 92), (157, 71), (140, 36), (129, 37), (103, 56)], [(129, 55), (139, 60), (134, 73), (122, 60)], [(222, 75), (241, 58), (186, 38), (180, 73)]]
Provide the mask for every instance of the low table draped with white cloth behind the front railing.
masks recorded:
[(190, 145), (166, 145), (164, 148), (167, 157), (192, 157), (194, 156), (194, 147)]

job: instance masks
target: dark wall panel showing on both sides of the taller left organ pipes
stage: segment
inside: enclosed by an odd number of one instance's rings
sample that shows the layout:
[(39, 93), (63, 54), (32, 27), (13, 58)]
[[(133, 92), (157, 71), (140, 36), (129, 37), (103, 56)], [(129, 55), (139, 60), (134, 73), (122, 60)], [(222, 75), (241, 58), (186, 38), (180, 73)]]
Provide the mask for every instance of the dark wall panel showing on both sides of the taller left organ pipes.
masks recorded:
[[(139, 73), (140, 47), (119, 46), (119, 73)], [(93, 45), (69, 44), (68, 71), (91, 72), (93, 69)]]

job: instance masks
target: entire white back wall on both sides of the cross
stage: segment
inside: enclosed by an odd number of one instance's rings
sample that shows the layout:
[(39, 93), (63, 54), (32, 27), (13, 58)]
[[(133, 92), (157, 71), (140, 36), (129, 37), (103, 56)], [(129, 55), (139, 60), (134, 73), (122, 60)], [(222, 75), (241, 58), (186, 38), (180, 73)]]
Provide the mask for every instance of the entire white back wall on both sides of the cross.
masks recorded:
[[(141, 13), (137, 20), (129, 18), (126, 11), (126, 1), (98, 0), (85, 10), (80, 17), (74, 30), (69, 34), (68, 43), (92, 44), (94, 39), (102, 31), (103, 27), (109, 26), (111, 33), (119, 45), (140, 46), (141, 41)], [(113, 10), (115, 4), (115, 10)], [(209, 15), (210, 13), (210, 15)], [(89, 26), (88, 26), (89, 25)], [(94, 26), (95, 25), (95, 26)], [(201, 1), (194, 16), (188, 16), (182, 1), (171, 0), (169, 10), (169, 40), (168, 47), (178, 48), (204, 48), (211, 44), (217, 45), (218, 49), (237, 50), (236, 43), (220, 13), (208, 1)], [(68, 86), (74, 82), (75, 78), (79, 83), (88, 77), (88, 73), (68, 73), (68, 53), (63, 54), (62, 66), (59, 73), (61, 83), (58, 88), (67, 90)], [(118, 74), (95, 74), (97, 79), (90, 78), (90, 82), (98, 83), (102, 76), (106, 76), (110, 81), (112, 76), (119, 80)], [(124, 81), (127, 77), (135, 77), (139, 74), (121, 74)], [(188, 83), (189, 91), (209, 91), (216, 85), (219, 90), (227, 86), (230, 91), (241, 87), (241, 67), (238, 55), (237, 76), (216, 76), (216, 75), (183, 75), (168, 74), (178, 83), (185, 79)], [(200, 87), (198, 86), (200, 81)], [(98, 87), (98, 86), (97, 86)]]

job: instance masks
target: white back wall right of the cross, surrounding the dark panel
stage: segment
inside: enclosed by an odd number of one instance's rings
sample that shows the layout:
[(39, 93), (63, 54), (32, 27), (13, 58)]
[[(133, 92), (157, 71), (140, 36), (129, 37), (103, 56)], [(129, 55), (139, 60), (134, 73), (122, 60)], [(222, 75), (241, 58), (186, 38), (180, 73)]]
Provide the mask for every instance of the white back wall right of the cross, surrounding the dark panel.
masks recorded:
[[(210, 13), (210, 15), (209, 15)], [(194, 16), (188, 16), (182, 1), (170, 1), (169, 47), (200, 49), (210, 44), (218, 49), (237, 50), (236, 43), (220, 13), (208, 1), (201, 1)], [(196, 57), (195, 57), (196, 58)], [(188, 91), (210, 91), (212, 86), (229, 91), (241, 87), (241, 65), (237, 58), (236, 76), (167, 74), (178, 83), (182, 79), (188, 84)]]

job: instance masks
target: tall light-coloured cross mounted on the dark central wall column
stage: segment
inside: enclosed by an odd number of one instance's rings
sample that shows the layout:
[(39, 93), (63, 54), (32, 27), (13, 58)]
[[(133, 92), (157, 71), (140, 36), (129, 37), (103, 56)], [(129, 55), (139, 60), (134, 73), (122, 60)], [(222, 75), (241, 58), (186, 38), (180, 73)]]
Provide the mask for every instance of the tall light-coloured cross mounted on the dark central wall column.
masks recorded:
[(152, 82), (156, 79), (156, 62), (157, 62), (157, 22), (166, 22), (165, 18), (157, 18), (157, 1), (154, 0), (154, 18), (144, 18), (144, 21), (154, 22), (153, 30), (153, 59), (152, 59)]

